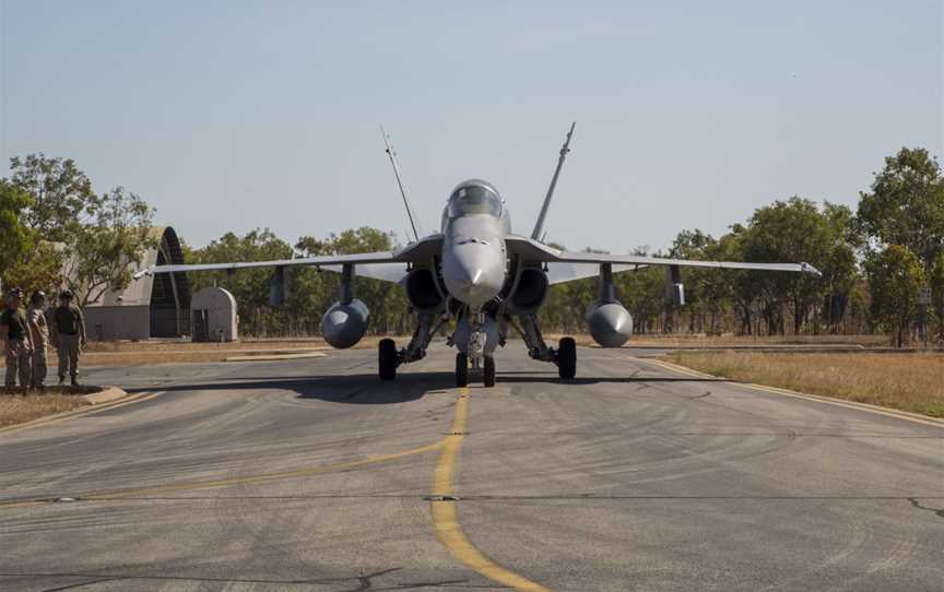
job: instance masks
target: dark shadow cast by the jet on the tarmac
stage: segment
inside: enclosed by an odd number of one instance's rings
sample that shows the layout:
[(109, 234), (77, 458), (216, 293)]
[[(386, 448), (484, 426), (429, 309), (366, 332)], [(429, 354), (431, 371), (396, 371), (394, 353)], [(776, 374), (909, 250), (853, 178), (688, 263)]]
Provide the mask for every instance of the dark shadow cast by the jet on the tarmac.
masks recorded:
[[(470, 376), (470, 386), (475, 388), (476, 374)], [(317, 399), (331, 403), (382, 405), (416, 401), (425, 394), (455, 388), (452, 372), (402, 372), (394, 381), (380, 381), (376, 374), (312, 377), (239, 377), (221, 382), (176, 384), (163, 390), (174, 391), (294, 391), (298, 399)], [(601, 383), (642, 384), (647, 382), (723, 382), (719, 378), (688, 377), (586, 377), (563, 381), (554, 372), (508, 371), (498, 375), (498, 386), (524, 383), (553, 383), (562, 387), (579, 387)]]

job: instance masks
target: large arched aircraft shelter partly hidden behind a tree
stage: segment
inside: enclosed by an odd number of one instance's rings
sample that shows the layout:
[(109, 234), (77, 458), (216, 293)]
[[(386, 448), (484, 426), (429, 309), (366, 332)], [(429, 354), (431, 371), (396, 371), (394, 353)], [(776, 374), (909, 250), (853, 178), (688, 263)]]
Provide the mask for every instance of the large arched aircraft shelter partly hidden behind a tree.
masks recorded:
[[(132, 271), (150, 265), (184, 263), (177, 233), (170, 226), (154, 228), (161, 237)], [(184, 273), (146, 275), (123, 292), (106, 291), (85, 309), (90, 340), (146, 340), (180, 338), (190, 332), (190, 285)]]

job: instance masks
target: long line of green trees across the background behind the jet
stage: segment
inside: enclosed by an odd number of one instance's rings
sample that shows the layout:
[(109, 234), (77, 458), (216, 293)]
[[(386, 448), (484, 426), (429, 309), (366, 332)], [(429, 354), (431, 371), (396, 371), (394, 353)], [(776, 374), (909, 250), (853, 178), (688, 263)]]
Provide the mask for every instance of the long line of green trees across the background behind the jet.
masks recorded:
[[(116, 187), (97, 193), (71, 159), (31, 154), (10, 161), (0, 179), (0, 279), (4, 286), (55, 291), (68, 286), (83, 304), (131, 281), (128, 261), (155, 246), (154, 209)], [(184, 246), (192, 263), (258, 261), (394, 249), (393, 233), (359, 227), (293, 242), (266, 229), (226, 233), (201, 248)], [(557, 245), (559, 247), (559, 245)], [(592, 247), (586, 248), (594, 250)], [(685, 270), (686, 305), (664, 297), (664, 271), (618, 273), (617, 297), (634, 331), (717, 335), (888, 334), (898, 345), (918, 330), (919, 292), (931, 289), (931, 341), (944, 343), (944, 175), (927, 150), (902, 147), (885, 158), (853, 212), (828, 201), (793, 196), (758, 208), (728, 232), (681, 230), (668, 250), (639, 254), (743, 261), (806, 261), (822, 277), (741, 270)], [(337, 299), (339, 277), (290, 269), (290, 293), (269, 305), (269, 270), (189, 274), (193, 291), (219, 285), (235, 296), (240, 332), (249, 336), (316, 335)], [(597, 296), (597, 280), (552, 286), (541, 310), (547, 332), (579, 333)], [(412, 317), (402, 289), (358, 279), (370, 308), (370, 333), (409, 333)]]

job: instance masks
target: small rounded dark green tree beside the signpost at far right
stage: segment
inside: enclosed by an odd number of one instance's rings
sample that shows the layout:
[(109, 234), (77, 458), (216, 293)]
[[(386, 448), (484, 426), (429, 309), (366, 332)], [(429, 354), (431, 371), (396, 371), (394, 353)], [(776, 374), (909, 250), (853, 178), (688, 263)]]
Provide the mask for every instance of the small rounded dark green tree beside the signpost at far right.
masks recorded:
[(889, 331), (898, 347), (908, 342), (918, 312), (918, 291), (924, 285), (920, 259), (908, 247), (890, 245), (865, 261), (872, 316)]

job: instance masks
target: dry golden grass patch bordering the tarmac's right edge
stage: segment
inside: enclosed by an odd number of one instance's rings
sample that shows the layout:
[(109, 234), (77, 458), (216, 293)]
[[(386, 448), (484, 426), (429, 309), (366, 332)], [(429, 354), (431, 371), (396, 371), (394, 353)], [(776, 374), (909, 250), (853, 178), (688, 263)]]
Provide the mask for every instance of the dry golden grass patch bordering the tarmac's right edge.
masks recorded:
[(944, 417), (944, 354), (676, 352), (713, 376)]

